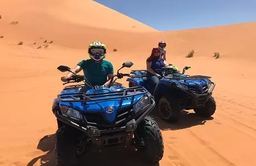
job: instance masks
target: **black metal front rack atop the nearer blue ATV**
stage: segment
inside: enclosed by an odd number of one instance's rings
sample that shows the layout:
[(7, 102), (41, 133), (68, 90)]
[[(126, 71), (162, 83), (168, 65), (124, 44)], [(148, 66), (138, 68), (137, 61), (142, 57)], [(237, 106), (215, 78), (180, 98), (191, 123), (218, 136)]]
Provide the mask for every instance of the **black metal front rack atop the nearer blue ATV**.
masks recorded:
[[(132, 93), (132, 94), (127, 94)], [(131, 87), (121, 89), (119, 91), (114, 92), (102, 92), (102, 93), (92, 93), (87, 94), (84, 92), (77, 92), (77, 93), (67, 93), (67, 94), (58, 94), (57, 97), (60, 102), (90, 102), (90, 101), (97, 101), (97, 100), (110, 100), (110, 99), (120, 99), (120, 98), (127, 98), (132, 97), (134, 100), (135, 95), (139, 94), (146, 94), (147, 90), (144, 87)], [(110, 97), (113, 96), (113, 97)], [(100, 97), (107, 97), (107, 98), (100, 98)]]

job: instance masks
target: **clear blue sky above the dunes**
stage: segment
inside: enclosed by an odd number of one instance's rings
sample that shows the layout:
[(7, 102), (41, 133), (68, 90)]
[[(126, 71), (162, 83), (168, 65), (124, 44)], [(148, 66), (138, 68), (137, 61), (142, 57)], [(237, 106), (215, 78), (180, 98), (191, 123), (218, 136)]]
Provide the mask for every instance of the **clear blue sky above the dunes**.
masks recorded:
[(158, 31), (256, 21), (256, 0), (94, 0)]

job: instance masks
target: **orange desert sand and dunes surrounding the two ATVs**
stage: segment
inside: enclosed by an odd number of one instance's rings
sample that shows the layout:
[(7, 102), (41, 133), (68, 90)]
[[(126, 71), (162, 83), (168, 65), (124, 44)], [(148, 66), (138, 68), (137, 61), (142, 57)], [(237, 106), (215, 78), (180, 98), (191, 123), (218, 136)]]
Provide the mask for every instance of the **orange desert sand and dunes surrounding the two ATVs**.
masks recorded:
[[(96, 40), (107, 45), (115, 72), (125, 61), (145, 69), (152, 47), (165, 40), (169, 63), (216, 83), (213, 117), (185, 110), (177, 124), (155, 117), (165, 144), (161, 166), (256, 165), (255, 22), (159, 32), (89, 0), (2, 0), (0, 15), (0, 165), (55, 165), (51, 107), (66, 74), (56, 68), (88, 58)], [(194, 57), (185, 58), (191, 49)], [(127, 86), (126, 78), (118, 82)], [(91, 165), (145, 165), (133, 152), (95, 159)]]

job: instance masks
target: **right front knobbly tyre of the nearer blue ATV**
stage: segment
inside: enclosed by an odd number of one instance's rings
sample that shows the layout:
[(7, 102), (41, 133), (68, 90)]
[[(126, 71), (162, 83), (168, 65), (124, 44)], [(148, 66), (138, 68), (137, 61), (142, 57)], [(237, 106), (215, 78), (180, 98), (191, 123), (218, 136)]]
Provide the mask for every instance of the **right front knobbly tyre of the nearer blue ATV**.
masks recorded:
[(135, 130), (137, 151), (148, 163), (158, 163), (164, 155), (164, 142), (155, 120), (146, 116)]

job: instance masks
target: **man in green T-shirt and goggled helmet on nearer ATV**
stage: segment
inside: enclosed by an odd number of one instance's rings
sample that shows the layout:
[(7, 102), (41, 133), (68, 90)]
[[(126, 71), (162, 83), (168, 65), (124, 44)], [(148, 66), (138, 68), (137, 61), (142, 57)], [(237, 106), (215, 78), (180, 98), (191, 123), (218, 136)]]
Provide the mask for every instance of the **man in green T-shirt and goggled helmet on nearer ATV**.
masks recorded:
[[(88, 54), (91, 59), (83, 59), (71, 71), (78, 73), (83, 70), (83, 74), (92, 86), (109, 85), (111, 78), (114, 76), (114, 68), (111, 62), (104, 60), (106, 53), (104, 43), (95, 41), (89, 44)], [(73, 73), (68, 72), (66, 76), (61, 77), (61, 81), (67, 82), (68, 79), (73, 77)], [(90, 86), (85, 84), (80, 91), (87, 92), (88, 89), (90, 89)]]

